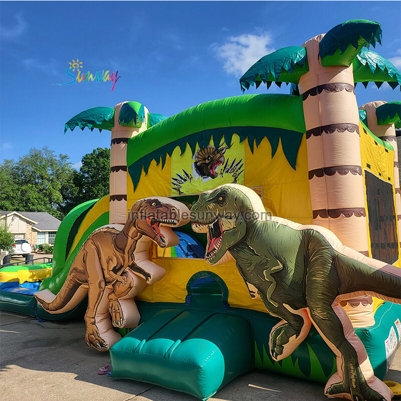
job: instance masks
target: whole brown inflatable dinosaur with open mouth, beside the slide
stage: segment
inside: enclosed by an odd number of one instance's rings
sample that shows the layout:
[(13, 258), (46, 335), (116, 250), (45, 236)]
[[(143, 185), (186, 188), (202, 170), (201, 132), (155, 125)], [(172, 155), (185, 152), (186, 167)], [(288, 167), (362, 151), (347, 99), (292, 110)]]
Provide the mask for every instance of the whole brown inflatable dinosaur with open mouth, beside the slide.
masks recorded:
[(133, 297), (165, 274), (149, 260), (152, 241), (161, 248), (177, 245), (179, 240), (171, 227), (188, 221), (189, 210), (173, 199), (138, 200), (120, 230), (116, 226), (100, 228), (88, 237), (57, 296), (44, 290), (35, 297), (48, 312), (62, 313), (88, 293), (86, 345), (105, 351), (121, 338), (112, 326), (138, 324)]

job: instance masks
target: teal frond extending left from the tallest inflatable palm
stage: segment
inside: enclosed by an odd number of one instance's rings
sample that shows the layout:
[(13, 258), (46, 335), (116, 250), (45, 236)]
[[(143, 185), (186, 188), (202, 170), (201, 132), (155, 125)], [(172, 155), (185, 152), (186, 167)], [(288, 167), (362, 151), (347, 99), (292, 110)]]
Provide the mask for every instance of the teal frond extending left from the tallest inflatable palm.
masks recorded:
[(241, 89), (245, 92), (250, 86), (258, 88), (263, 82), (269, 88), (272, 82), (281, 86), (283, 82), (298, 84), (302, 75), (307, 73), (308, 60), (306, 49), (289, 46), (262, 57), (241, 78)]

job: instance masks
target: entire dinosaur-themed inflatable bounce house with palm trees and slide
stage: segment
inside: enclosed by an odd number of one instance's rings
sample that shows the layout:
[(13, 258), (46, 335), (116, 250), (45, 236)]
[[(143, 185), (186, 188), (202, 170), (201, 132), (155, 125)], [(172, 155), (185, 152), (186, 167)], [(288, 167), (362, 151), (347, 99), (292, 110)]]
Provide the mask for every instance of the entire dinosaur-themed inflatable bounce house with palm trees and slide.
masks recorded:
[[(166, 118), (138, 102), (65, 125), (111, 131), (110, 194), (62, 222), (51, 265), (0, 270), (4, 310), (86, 323), (114, 378), (211, 397), (263, 368), (325, 394), (390, 400), (401, 342), (401, 102), (357, 106), (354, 86), (401, 87), (348, 21), (255, 63), (291, 94), (214, 100)], [(84, 334), (84, 333), (83, 333)], [(268, 374), (266, 375), (268, 380)]]

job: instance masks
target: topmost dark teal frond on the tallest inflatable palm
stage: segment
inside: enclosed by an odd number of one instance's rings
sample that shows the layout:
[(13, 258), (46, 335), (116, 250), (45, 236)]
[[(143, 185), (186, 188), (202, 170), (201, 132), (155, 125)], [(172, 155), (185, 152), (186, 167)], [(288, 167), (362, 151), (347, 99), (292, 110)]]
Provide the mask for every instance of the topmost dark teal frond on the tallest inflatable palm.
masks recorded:
[(380, 24), (367, 20), (351, 20), (337, 25), (319, 43), (323, 67), (352, 64), (363, 47), (381, 45)]

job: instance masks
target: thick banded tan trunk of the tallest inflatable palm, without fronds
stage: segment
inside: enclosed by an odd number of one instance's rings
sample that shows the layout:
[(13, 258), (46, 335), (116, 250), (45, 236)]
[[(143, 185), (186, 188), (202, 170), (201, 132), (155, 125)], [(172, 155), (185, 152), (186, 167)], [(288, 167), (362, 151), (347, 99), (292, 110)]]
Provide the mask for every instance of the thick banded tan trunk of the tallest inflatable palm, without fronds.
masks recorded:
[[(359, 113), (350, 67), (322, 67), (319, 42), (307, 41), (309, 72), (299, 81), (303, 100), (313, 223), (333, 231), (340, 241), (368, 256)], [(374, 324), (373, 301), (345, 301), (354, 327)], [(363, 316), (363, 318), (361, 318)]]

